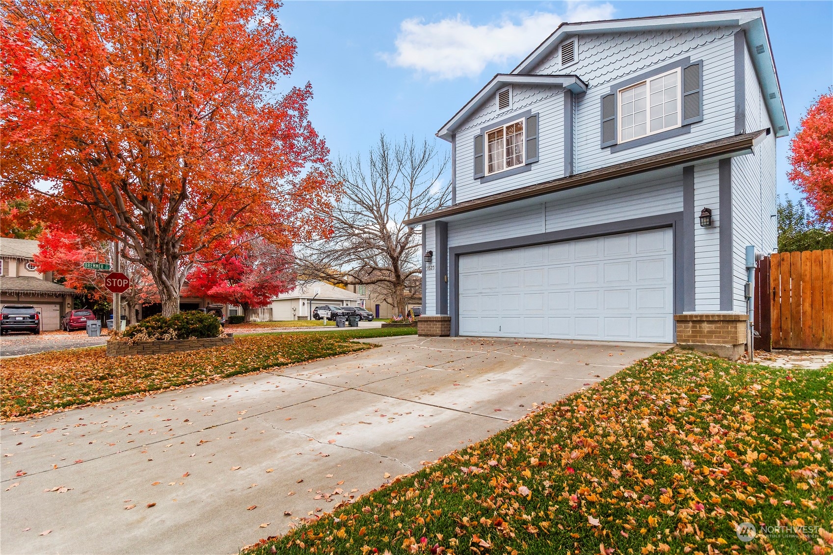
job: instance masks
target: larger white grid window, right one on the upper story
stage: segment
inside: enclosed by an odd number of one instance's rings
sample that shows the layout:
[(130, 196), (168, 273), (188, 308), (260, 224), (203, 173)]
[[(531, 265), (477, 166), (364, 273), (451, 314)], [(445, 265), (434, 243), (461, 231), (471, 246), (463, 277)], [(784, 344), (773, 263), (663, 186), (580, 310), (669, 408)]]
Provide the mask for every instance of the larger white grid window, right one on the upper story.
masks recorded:
[(621, 142), (680, 127), (680, 70), (619, 90)]

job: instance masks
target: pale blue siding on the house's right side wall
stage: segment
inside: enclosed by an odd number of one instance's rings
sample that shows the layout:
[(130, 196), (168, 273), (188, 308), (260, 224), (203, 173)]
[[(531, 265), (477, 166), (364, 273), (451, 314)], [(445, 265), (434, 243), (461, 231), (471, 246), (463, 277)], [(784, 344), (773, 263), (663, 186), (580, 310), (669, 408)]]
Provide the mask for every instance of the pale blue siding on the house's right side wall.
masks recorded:
[[(746, 128), (771, 128), (761, 87), (746, 47), (745, 64)], [(736, 312), (746, 312), (746, 245), (755, 245), (763, 253), (776, 248), (776, 136), (770, 133), (754, 149), (753, 154), (732, 158), (732, 229), (735, 241), (732, 252), (732, 305)]]

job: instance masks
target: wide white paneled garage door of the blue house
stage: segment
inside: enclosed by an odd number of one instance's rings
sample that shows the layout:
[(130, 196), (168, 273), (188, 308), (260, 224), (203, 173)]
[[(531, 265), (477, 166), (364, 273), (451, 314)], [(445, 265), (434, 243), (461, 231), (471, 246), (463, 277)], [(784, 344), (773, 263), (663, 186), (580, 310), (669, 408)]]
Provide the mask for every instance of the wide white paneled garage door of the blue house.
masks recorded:
[(466, 254), (460, 334), (671, 343), (671, 228)]

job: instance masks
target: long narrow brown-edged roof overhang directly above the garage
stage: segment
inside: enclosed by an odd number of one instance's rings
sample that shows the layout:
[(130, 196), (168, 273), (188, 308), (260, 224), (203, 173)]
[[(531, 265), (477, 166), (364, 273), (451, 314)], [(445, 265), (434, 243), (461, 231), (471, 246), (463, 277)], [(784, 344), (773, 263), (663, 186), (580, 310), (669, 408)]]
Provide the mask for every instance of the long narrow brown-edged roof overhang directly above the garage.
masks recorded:
[[(474, 198), (465, 203), (452, 204), (444, 208), (421, 214), (415, 218), (405, 220), (405, 225), (415, 226), (420, 223), (432, 222), (456, 214), (464, 214), (490, 208), (501, 204), (514, 203), (526, 198), (541, 197), (557, 191), (566, 191), (576, 187), (601, 183), (609, 179), (623, 178), (636, 173), (651, 172), (661, 168), (671, 168), (686, 163), (696, 162), (707, 158), (726, 158), (742, 153), (751, 153), (752, 148), (760, 143), (761, 138), (769, 134), (768, 129), (761, 129), (754, 133), (735, 135), (701, 143), (692, 147), (678, 148), (667, 153), (654, 154), (646, 158), (637, 158), (627, 162), (618, 163), (606, 168), (590, 170), (589, 172), (576, 173), (566, 178), (551, 179), (549, 181), (535, 183), (517, 189), (511, 189), (502, 193), (491, 194), (488, 197)], [(604, 202), (604, 199), (600, 199)]]

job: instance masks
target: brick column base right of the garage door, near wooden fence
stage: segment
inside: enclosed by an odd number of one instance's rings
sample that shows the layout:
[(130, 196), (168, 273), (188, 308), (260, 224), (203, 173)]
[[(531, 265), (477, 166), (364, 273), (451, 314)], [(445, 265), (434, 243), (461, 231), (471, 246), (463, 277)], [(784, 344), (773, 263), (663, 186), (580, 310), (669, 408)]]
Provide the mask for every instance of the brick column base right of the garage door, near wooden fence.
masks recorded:
[(737, 360), (746, 350), (746, 323), (741, 313), (676, 314), (677, 345)]

